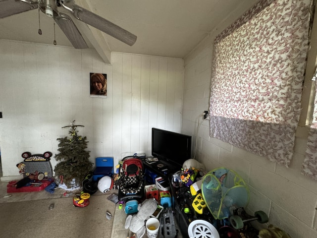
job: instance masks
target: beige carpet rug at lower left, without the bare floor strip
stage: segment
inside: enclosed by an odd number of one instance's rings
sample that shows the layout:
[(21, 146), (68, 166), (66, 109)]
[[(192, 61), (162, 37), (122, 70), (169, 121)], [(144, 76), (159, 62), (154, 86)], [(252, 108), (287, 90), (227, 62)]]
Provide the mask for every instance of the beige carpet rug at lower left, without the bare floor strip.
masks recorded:
[[(72, 197), (0, 203), (0, 238), (110, 238), (115, 204), (91, 196), (87, 207), (73, 206)], [(49, 209), (53, 204), (53, 209)]]

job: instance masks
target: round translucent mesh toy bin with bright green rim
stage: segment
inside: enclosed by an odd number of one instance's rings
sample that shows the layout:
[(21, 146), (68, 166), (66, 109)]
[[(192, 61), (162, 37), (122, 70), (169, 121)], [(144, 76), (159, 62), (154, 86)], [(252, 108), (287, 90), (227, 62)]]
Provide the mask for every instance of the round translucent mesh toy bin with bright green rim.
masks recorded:
[(202, 182), (202, 194), (214, 219), (230, 216), (230, 208), (246, 207), (249, 187), (233, 170), (224, 167), (208, 172)]

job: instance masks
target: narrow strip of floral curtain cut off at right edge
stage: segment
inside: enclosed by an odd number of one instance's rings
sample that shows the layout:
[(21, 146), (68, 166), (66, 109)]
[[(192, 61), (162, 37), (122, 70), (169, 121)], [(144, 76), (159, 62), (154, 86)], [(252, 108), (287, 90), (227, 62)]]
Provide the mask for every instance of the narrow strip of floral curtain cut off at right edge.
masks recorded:
[[(315, 80), (316, 79), (314, 77), (314, 81)], [(315, 95), (317, 95), (317, 91)], [(312, 121), (312, 125), (308, 135), (302, 174), (317, 180), (317, 97), (316, 96), (315, 96), (313, 121)]]

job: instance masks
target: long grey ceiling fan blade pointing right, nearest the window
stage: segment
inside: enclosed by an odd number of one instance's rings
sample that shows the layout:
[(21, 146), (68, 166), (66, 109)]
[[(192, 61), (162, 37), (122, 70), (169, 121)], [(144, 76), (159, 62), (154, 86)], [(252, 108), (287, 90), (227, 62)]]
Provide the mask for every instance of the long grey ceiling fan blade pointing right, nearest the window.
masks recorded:
[[(67, 6), (66, 6), (67, 7)], [(105, 18), (85, 9), (76, 4), (72, 4), (70, 7), (66, 9), (72, 11), (73, 15), (82, 22), (85, 22), (88, 25), (91, 25), (106, 34), (116, 38), (123, 43), (132, 46), (136, 40), (137, 36), (132, 33), (124, 30), (118, 25), (106, 20)]]

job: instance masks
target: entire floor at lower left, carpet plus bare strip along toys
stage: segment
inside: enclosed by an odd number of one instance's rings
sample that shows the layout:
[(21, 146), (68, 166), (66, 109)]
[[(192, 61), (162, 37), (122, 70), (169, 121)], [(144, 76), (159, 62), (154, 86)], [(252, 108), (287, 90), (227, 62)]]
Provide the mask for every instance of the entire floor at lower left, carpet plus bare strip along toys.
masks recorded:
[(62, 189), (56, 188), (53, 194), (45, 190), (7, 193), (6, 184), (0, 182), (0, 238), (127, 237), (126, 214), (107, 199), (115, 190), (97, 191), (87, 207), (75, 207), (74, 194), (65, 197)]

